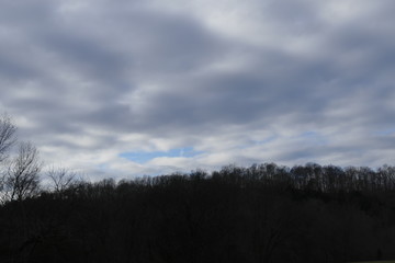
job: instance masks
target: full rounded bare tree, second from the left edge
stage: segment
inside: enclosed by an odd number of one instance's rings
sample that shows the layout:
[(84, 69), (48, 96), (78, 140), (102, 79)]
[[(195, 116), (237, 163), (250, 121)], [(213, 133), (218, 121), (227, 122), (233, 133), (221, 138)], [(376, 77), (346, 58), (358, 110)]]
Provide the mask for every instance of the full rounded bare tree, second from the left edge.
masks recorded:
[(31, 142), (21, 142), (4, 174), (5, 201), (22, 201), (37, 194), (42, 165), (38, 150)]

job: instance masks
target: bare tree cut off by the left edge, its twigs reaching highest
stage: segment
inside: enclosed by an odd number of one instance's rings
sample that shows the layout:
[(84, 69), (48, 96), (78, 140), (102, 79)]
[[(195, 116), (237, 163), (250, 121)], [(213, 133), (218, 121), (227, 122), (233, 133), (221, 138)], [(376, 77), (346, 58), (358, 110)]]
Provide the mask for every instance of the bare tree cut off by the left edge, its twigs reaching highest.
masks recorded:
[(15, 132), (11, 117), (7, 114), (0, 116), (0, 162), (7, 159), (9, 149), (15, 142)]

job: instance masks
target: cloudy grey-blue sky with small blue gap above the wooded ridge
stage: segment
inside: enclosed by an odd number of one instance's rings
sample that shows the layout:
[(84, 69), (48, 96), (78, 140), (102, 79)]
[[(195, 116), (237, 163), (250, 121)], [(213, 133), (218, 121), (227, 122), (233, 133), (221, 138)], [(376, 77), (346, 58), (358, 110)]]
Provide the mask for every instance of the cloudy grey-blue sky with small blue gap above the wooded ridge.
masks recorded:
[(393, 0), (0, 0), (0, 112), (92, 180), (395, 164)]

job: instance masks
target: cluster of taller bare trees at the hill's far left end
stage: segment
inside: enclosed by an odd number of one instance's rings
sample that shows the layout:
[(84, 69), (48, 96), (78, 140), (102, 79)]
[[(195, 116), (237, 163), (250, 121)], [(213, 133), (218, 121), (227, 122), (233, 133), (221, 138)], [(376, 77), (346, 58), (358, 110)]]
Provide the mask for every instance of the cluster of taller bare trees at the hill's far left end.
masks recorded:
[[(65, 168), (45, 172), (47, 185), (42, 185), (44, 163), (37, 148), (30, 141), (19, 141), (12, 118), (0, 116), (0, 204), (40, 196), (45, 191), (60, 192), (78, 182), (78, 174)], [(12, 153), (12, 155), (11, 155)]]

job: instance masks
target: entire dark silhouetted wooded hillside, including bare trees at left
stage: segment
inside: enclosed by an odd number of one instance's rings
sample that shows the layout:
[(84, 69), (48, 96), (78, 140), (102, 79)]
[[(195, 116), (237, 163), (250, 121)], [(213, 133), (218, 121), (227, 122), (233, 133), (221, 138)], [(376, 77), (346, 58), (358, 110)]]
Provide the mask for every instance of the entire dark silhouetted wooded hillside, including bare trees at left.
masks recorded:
[[(0, 127), (11, 123), (3, 118)], [(9, 130), (0, 135), (15, 128)], [(0, 141), (0, 262), (395, 259), (391, 165), (262, 163), (119, 182), (52, 169), (48, 187), (41, 185), (38, 159), (26, 161), (37, 157), (31, 144), (22, 151), (12, 136)]]

